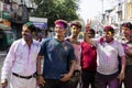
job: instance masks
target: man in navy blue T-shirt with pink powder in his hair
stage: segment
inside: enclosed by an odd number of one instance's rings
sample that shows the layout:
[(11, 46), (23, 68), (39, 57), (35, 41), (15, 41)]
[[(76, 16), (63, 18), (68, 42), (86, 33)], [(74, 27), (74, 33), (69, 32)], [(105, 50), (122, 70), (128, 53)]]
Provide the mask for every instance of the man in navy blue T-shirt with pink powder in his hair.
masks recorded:
[(56, 20), (55, 37), (42, 42), (40, 56), (44, 56), (44, 88), (68, 88), (68, 80), (75, 69), (75, 53), (73, 45), (65, 41), (66, 29), (65, 20)]

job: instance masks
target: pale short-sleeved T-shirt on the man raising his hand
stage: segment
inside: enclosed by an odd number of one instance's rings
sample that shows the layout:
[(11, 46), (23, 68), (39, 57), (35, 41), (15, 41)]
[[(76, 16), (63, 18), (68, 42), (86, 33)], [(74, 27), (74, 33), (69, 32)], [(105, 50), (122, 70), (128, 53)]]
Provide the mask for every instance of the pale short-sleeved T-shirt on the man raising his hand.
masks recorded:
[(118, 72), (118, 56), (124, 56), (124, 50), (120, 42), (112, 41), (100, 44), (97, 42), (97, 72), (111, 75)]

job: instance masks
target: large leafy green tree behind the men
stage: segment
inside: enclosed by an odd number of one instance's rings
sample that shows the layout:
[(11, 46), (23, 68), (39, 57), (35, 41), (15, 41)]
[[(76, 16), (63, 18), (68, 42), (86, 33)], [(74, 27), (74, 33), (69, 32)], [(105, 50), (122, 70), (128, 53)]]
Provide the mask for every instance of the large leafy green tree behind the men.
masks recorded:
[(34, 0), (37, 8), (33, 11), (34, 16), (47, 18), (48, 26), (54, 26), (54, 21), (63, 19), (72, 21), (78, 19), (76, 11), (79, 0)]

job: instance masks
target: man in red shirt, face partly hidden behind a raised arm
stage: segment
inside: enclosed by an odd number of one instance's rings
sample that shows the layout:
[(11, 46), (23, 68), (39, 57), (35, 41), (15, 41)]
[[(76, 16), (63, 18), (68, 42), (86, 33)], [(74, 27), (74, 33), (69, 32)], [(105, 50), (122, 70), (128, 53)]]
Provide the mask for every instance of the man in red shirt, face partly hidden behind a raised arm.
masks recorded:
[[(89, 38), (95, 37), (95, 30), (90, 29), (88, 31)], [(82, 42), (81, 43), (81, 88), (95, 88), (95, 75), (97, 70), (97, 51), (96, 46)]]

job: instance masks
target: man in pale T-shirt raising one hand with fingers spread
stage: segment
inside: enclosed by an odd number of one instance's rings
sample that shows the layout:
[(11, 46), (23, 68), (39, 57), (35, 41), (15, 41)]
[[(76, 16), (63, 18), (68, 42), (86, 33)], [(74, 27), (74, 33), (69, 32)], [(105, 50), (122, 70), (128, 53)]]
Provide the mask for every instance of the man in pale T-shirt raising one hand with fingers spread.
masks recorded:
[[(125, 54), (121, 43), (113, 38), (112, 26), (103, 28), (103, 36), (100, 40), (90, 40), (88, 31), (90, 22), (86, 25), (85, 41), (97, 47), (97, 74), (96, 88), (118, 88), (124, 79)], [(119, 73), (118, 56), (121, 57), (121, 72)]]

